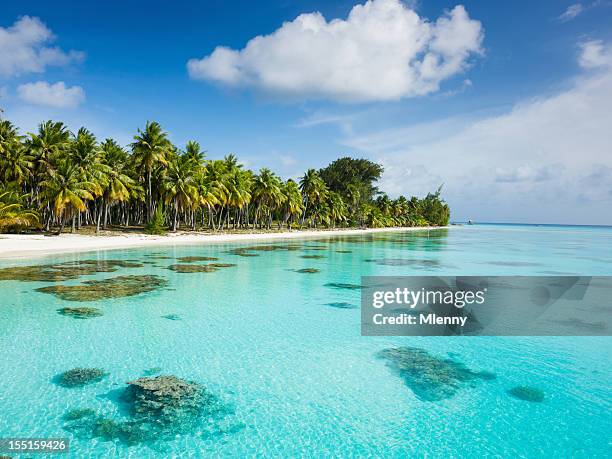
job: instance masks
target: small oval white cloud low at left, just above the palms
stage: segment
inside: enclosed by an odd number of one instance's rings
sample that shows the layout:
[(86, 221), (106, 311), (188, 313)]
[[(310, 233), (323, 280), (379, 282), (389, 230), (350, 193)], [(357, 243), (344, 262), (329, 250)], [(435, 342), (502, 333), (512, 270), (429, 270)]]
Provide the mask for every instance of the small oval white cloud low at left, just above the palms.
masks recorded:
[(83, 88), (67, 87), (63, 81), (55, 84), (46, 81), (22, 84), (17, 87), (17, 94), (29, 104), (56, 108), (74, 108), (85, 100)]

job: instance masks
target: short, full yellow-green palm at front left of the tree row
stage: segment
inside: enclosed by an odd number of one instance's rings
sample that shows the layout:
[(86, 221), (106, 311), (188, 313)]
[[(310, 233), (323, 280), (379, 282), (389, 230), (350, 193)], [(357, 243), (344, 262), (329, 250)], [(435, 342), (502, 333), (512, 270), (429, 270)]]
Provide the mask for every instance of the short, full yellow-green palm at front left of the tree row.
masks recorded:
[[(49, 172), (46, 180), (40, 183), (44, 197), (53, 204), (53, 212), (59, 220), (58, 234), (64, 229), (67, 217), (72, 217), (72, 230), (74, 231), (74, 214), (85, 210), (85, 201), (93, 199), (91, 190), (96, 187), (94, 183), (83, 181), (78, 168), (69, 161), (61, 161), (57, 169)], [(51, 224), (51, 217), (47, 221), (47, 229)]]

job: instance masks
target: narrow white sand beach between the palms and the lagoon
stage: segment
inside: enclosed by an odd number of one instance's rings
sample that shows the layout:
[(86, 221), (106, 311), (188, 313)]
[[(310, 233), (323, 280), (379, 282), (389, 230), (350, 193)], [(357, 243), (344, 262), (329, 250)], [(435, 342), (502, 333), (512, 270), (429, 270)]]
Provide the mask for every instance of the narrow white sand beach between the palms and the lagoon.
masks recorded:
[(371, 229), (338, 229), (338, 230), (296, 230), (277, 233), (177, 233), (166, 236), (146, 234), (117, 234), (113, 236), (86, 236), (80, 234), (62, 234), (61, 236), (3, 234), (0, 235), (0, 259), (30, 258), (65, 252), (88, 252), (95, 250), (122, 249), (181, 244), (207, 244), (235, 241), (262, 241), (275, 239), (296, 239), (322, 237), (329, 235), (355, 235), (382, 233), (392, 231), (418, 231), (436, 229), (420, 228), (371, 228)]

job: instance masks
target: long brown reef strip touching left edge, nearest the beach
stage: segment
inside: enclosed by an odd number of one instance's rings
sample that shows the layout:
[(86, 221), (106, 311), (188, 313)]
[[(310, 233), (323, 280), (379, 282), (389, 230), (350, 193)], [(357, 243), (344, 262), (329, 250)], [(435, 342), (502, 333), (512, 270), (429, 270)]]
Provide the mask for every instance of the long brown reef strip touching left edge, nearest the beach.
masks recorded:
[(142, 268), (143, 266), (142, 263), (127, 260), (80, 260), (49, 265), (14, 266), (0, 269), (0, 281), (59, 282), (100, 272), (110, 273), (119, 268)]

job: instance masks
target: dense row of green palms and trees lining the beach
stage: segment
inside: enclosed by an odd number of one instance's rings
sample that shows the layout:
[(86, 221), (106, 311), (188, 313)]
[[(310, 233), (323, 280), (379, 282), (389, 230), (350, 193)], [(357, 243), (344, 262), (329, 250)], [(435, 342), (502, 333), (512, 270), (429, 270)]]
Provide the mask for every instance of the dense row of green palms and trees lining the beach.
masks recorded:
[(123, 148), (46, 121), (20, 135), (0, 120), (0, 230), (65, 226), (166, 229), (385, 227), (446, 225), (440, 189), (423, 199), (389, 198), (376, 187), (382, 166), (340, 158), (283, 181), (254, 172), (234, 155), (205, 158), (197, 142), (181, 150), (148, 122)]

